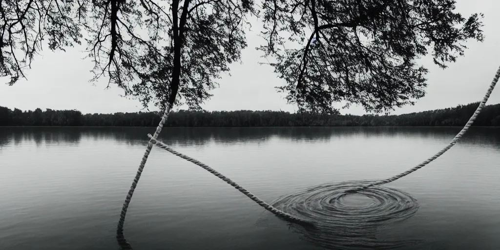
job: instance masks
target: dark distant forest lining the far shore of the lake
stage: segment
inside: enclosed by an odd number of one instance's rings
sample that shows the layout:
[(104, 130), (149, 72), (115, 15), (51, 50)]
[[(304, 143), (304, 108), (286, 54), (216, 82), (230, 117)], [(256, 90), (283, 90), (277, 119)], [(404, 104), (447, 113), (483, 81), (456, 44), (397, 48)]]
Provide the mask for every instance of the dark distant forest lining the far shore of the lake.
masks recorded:
[[(190, 111), (172, 112), (165, 126), (462, 126), (478, 102), (452, 108), (400, 115), (325, 115), (284, 111)], [(22, 111), (0, 106), (0, 126), (156, 126), (159, 112), (87, 113), (78, 110)], [(500, 126), (500, 104), (487, 105), (476, 126)]]

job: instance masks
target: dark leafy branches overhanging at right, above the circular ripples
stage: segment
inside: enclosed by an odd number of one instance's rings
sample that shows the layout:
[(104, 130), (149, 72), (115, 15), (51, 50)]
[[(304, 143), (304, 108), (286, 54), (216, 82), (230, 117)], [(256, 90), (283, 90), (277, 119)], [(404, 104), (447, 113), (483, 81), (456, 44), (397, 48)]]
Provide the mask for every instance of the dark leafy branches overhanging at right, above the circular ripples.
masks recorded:
[[(267, 44), (260, 49), (276, 59), (270, 65), (286, 80), (278, 89), (301, 109), (334, 113), (331, 103), (345, 101), (370, 113), (388, 112), (424, 96), (427, 69), (415, 59), (430, 53), (444, 68), (463, 55), (467, 39), (482, 41), (482, 14), (465, 19), (453, 12), (454, 4), (264, 0)], [(283, 46), (290, 41), (303, 46)]]

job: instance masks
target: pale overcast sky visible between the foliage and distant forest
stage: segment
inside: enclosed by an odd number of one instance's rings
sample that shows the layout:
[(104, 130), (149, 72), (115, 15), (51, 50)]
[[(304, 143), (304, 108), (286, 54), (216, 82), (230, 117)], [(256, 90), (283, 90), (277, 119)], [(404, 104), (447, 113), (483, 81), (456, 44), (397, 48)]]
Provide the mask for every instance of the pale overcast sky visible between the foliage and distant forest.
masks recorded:
[[(457, 10), (468, 17), (471, 13), (484, 13), (484, 42), (468, 42), (465, 56), (449, 64), (447, 69), (433, 65), (429, 58), (423, 64), (429, 69), (426, 96), (414, 106), (396, 109), (393, 113), (407, 113), (451, 107), (479, 101), (486, 91), (497, 67), (500, 65), (500, 9), (498, 0), (457, 0)], [(255, 26), (260, 24), (255, 23)], [(254, 28), (255, 29), (255, 28)], [(263, 59), (254, 47), (263, 42), (256, 31), (247, 33), (248, 47), (242, 52), (242, 64), (231, 66), (231, 76), (224, 76), (220, 87), (202, 107), (206, 110), (285, 110), (296, 107), (286, 104), (284, 96), (274, 86), (284, 84), (276, 77), (272, 67), (259, 65)], [(52, 109), (78, 109), (83, 113), (136, 112), (141, 108), (137, 100), (120, 97), (122, 91), (111, 86), (104, 89), (107, 81), (101, 79), (95, 85), (88, 82), (92, 77), (92, 63), (82, 59), (84, 47), (66, 52), (51, 52), (44, 48), (42, 56), (35, 58), (32, 68), (26, 71), (27, 80), (13, 86), (0, 84), (0, 106), (27, 110), (37, 107)], [(488, 104), (500, 102), (500, 89), (495, 89)], [(340, 107), (340, 104), (335, 105)], [(341, 113), (363, 114), (361, 107), (350, 107)]]

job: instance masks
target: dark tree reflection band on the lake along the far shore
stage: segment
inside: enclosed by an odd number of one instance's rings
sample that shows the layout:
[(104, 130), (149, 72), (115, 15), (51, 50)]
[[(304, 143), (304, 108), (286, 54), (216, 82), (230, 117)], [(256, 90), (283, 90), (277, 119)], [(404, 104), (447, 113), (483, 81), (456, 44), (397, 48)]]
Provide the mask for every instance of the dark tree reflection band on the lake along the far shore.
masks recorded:
[[(205, 145), (207, 143), (233, 145), (241, 142), (265, 142), (271, 138), (293, 141), (321, 141), (349, 137), (407, 137), (447, 140), (460, 127), (166, 127), (160, 139), (171, 145)], [(45, 144), (77, 144), (84, 138), (111, 140), (130, 145), (145, 145), (151, 127), (2, 127), (0, 146), (33, 141)], [(460, 143), (498, 144), (500, 128), (472, 127)]]

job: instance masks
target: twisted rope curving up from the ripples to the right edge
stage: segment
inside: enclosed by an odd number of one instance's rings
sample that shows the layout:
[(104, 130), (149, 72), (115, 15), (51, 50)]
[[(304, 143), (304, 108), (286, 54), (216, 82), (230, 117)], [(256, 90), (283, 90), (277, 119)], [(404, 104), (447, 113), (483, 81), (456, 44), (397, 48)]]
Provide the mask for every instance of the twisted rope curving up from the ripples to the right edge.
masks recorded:
[(399, 178), (401, 178), (403, 176), (406, 176), (406, 175), (408, 175), (408, 174), (410, 174), (410, 173), (412, 173), (412, 172), (420, 169), (424, 165), (430, 163), (432, 160), (434, 160), (437, 157), (441, 156), (441, 154), (443, 154), (448, 149), (450, 149), (454, 144), (456, 144), (456, 142), (463, 136), (463, 134), (465, 134), (465, 132), (467, 132), (467, 130), (469, 129), (469, 127), (472, 125), (472, 123), (474, 123), (475, 118), (477, 117), (477, 115), (479, 115), (479, 113), (481, 112), (482, 108), (486, 105), (486, 101), (488, 101), (489, 95), (493, 91), (493, 88), (495, 87), (496, 82), (498, 81), (498, 78), (500, 78), (500, 67), (498, 67), (498, 69), (496, 70), (496, 74), (493, 77), (493, 80), (491, 80), (491, 83), (489, 84), (489, 87), (488, 87), (488, 90), (486, 91), (486, 94), (484, 94), (484, 97), (482, 97), (481, 102), (479, 103), (479, 105), (475, 109), (475, 111), (472, 114), (472, 116), (470, 116), (469, 120), (467, 121), (467, 123), (465, 124), (465, 126), (463, 126), (462, 130), (460, 130), (460, 132), (458, 132), (455, 135), (455, 137), (453, 137), (453, 139), (449, 142), (449, 144), (446, 145), (443, 149), (439, 150), (437, 153), (435, 153), (434, 155), (430, 156), (428, 159), (422, 161), (420, 164), (418, 164), (418, 165), (416, 165), (416, 166), (414, 166), (414, 167), (412, 167), (412, 168), (410, 168), (410, 169), (408, 169), (408, 170), (406, 170), (406, 171), (404, 171), (402, 173), (394, 175), (394, 176), (392, 176), (390, 178), (382, 179), (382, 180), (379, 180), (379, 181), (376, 181), (376, 182), (372, 182), (370, 184), (367, 184), (367, 185), (364, 185), (364, 186), (361, 186), (361, 187), (349, 190), (349, 192), (356, 192), (356, 191), (364, 190), (364, 189), (366, 189), (366, 188), (368, 188), (370, 186), (381, 185), (381, 184), (392, 182), (392, 181), (394, 181), (396, 179), (399, 179)]

